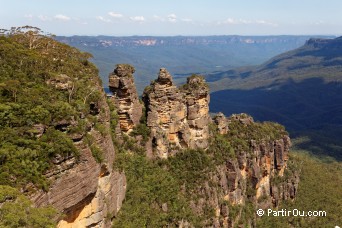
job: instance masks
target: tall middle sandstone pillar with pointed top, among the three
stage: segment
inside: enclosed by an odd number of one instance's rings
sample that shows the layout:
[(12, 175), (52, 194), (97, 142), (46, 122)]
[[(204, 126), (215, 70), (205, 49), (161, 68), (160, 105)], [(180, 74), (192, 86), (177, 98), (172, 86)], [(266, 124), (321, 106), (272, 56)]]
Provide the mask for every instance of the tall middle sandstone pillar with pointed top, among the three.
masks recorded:
[(190, 132), (184, 94), (166, 69), (160, 69), (158, 79), (145, 89), (143, 100), (157, 156), (167, 158), (170, 153), (187, 148)]

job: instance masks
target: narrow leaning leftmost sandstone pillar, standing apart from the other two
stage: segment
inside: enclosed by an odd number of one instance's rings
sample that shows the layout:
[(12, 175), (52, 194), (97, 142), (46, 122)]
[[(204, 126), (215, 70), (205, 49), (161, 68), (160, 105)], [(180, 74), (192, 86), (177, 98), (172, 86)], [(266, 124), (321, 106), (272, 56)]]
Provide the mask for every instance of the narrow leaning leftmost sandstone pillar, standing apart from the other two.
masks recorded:
[(136, 126), (142, 115), (142, 105), (139, 102), (134, 84), (134, 68), (127, 64), (118, 64), (109, 75), (109, 89), (119, 115), (121, 131), (129, 133)]

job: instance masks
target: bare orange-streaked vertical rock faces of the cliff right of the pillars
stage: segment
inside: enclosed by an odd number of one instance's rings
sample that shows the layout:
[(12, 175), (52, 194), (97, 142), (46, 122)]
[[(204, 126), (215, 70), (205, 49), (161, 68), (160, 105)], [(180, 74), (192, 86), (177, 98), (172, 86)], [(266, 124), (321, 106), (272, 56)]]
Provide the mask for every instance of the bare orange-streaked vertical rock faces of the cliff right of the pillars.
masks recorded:
[[(221, 134), (229, 134), (236, 125), (244, 128), (245, 132), (255, 127), (252, 117), (247, 114), (226, 118), (219, 113), (214, 122)], [(214, 227), (234, 227), (248, 204), (253, 208), (267, 209), (277, 207), (281, 201), (294, 199), (298, 174), (284, 174), (290, 145), (290, 138), (285, 132), (276, 139), (262, 136), (258, 140), (249, 140), (247, 148), (241, 147), (235, 151), (235, 157), (216, 166), (210, 182), (198, 188), (200, 197), (192, 202), (192, 209), (203, 214), (205, 208), (213, 208)], [(254, 209), (252, 213), (255, 213)], [(245, 225), (253, 226), (254, 223), (253, 219), (244, 221)]]

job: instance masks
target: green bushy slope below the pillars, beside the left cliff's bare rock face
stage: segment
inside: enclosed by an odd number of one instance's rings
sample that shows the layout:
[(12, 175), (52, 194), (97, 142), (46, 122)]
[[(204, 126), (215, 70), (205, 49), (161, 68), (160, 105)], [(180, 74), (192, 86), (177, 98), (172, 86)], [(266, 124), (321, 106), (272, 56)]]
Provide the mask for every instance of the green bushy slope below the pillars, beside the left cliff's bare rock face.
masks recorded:
[(176, 227), (182, 219), (196, 220), (177, 180), (157, 163), (121, 151), (116, 167), (125, 171), (127, 192), (113, 227)]

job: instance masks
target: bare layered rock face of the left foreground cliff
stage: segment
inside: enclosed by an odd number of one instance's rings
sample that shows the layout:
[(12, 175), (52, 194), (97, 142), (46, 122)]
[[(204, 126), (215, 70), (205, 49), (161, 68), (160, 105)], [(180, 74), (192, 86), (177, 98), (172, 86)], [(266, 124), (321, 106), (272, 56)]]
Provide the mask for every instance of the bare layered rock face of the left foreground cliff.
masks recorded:
[[(97, 89), (102, 91), (100, 86)], [(79, 157), (53, 158), (54, 165), (45, 174), (51, 183), (48, 191), (31, 196), (36, 206), (52, 205), (64, 214), (58, 227), (110, 227), (111, 218), (125, 197), (125, 175), (112, 168), (115, 150), (110, 135), (110, 112), (104, 93), (101, 95), (96, 104), (90, 103), (90, 114), (103, 129), (90, 125), (86, 133), (70, 135)], [(68, 124), (65, 129), (69, 129)], [(94, 158), (94, 147), (101, 152), (100, 162)]]

